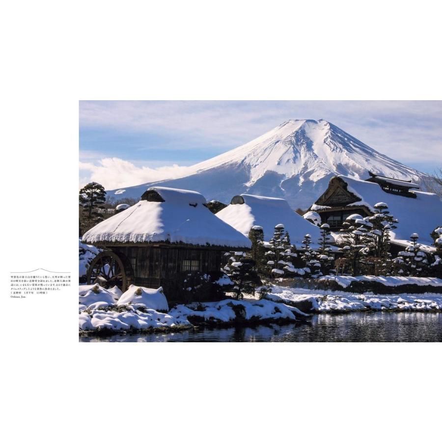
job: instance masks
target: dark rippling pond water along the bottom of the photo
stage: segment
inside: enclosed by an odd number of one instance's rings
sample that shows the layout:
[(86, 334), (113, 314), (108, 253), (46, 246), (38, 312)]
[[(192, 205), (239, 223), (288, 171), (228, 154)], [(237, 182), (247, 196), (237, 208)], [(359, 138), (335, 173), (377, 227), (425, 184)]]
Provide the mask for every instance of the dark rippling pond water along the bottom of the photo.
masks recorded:
[(441, 342), (442, 313), (321, 314), (311, 323), (80, 337), (80, 342)]

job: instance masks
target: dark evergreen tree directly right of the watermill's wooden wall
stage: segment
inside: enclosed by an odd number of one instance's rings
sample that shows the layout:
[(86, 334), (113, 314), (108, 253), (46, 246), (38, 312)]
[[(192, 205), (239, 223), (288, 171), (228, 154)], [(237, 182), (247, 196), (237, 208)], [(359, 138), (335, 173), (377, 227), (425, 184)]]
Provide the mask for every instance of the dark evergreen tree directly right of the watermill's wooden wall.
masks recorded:
[(243, 299), (244, 293), (253, 294), (255, 287), (261, 285), (261, 279), (254, 270), (255, 261), (245, 252), (233, 252), (229, 262), (224, 266), (233, 282), (233, 293), (236, 299)]

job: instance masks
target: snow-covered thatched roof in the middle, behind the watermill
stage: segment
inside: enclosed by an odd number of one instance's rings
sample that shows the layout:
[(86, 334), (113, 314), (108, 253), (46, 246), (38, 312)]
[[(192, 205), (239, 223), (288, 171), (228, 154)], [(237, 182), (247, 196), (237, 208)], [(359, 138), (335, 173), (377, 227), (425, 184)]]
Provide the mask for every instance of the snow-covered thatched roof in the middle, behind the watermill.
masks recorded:
[(284, 225), (290, 235), (290, 241), (297, 247), (302, 246), (304, 235), (307, 233), (313, 241), (319, 238), (319, 228), (294, 212), (282, 198), (236, 195), (216, 216), (246, 236), (254, 225), (262, 226), (265, 241), (272, 239), (277, 224)]

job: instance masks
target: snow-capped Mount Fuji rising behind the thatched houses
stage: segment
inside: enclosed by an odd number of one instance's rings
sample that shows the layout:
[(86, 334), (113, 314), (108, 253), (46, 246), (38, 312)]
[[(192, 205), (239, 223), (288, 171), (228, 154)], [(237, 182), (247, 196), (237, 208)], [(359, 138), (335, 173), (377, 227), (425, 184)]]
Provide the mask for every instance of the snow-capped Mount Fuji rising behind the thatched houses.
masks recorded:
[(229, 203), (249, 193), (287, 199), (293, 209), (308, 208), (332, 176), (366, 179), (368, 172), (419, 182), (425, 173), (367, 146), (325, 120), (288, 120), (264, 135), (189, 168), (186, 176), (108, 191), (116, 200), (138, 199), (161, 185), (202, 193)]

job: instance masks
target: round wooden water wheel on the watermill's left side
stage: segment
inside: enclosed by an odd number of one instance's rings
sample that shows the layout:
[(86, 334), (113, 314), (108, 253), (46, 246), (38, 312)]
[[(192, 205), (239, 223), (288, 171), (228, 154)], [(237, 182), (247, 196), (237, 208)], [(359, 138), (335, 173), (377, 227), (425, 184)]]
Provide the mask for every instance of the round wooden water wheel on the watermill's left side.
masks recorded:
[(87, 269), (87, 284), (100, 284), (104, 288), (115, 285), (125, 292), (133, 281), (132, 267), (126, 256), (111, 250), (100, 252)]

